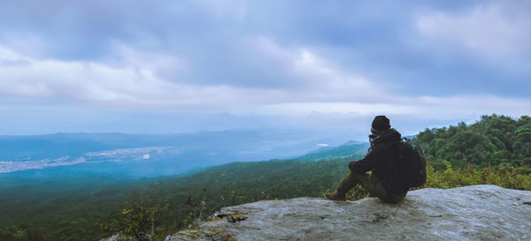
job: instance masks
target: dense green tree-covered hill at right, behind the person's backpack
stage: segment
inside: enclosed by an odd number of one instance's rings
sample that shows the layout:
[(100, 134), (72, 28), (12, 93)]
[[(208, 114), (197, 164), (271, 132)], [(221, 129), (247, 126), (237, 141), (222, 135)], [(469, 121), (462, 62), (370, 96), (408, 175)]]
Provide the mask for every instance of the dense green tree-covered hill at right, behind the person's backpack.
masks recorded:
[(474, 124), (426, 129), (415, 139), (436, 169), (510, 163), (531, 167), (531, 117), (482, 116)]

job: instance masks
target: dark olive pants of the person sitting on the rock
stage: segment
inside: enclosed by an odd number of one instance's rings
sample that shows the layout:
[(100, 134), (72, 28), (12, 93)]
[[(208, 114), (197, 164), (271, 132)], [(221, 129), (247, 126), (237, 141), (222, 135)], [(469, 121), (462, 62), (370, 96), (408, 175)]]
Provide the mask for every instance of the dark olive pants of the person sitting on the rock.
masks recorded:
[(341, 184), (337, 186), (337, 192), (347, 193), (358, 184), (365, 187), (367, 192), (371, 193), (371, 196), (378, 197), (384, 202), (397, 203), (405, 197), (405, 194), (407, 194), (407, 192), (391, 194), (381, 185), (378, 177), (374, 177), (367, 173), (352, 173), (351, 171), (349, 171), (349, 175), (342, 180)]

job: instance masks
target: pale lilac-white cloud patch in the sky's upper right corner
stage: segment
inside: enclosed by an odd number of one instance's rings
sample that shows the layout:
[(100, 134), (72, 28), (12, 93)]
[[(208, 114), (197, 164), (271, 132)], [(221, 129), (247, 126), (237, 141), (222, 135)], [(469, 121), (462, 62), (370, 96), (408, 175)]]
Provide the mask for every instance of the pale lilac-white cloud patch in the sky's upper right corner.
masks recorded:
[(501, 6), (477, 6), (466, 14), (435, 12), (416, 23), (421, 34), (439, 41), (465, 45), (491, 56), (529, 54), (531, 19), (511, 18)]

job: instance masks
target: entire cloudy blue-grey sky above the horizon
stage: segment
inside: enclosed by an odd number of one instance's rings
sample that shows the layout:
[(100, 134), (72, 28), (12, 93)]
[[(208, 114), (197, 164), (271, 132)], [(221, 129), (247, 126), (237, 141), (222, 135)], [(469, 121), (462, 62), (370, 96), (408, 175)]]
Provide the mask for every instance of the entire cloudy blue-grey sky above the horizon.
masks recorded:
[(0, 135), (531, 112), (529, 1), (0, 2)]

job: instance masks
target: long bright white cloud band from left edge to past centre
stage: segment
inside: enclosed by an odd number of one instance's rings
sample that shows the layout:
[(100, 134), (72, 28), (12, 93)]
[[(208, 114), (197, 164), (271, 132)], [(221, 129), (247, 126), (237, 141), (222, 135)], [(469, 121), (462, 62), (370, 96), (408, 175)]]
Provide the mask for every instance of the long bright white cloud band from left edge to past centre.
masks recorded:
[[(193, 84), (185, 60), (121, 46), (119, 64), (42, 60), (0, 48), (0, 94), (13, 98), (42, 98), (96, 105), (232, 109), (238, 105), (286, 102), (362, 101), (381, 91), (361, 76), (338, 69), (310, 49), (282, 49), (258, 38), (296, 83), (294, 88), (257, 88)], [(172, 72), (172, 74), (166, 74)], [(212, 110), (211, 109), (211, 110)]]

